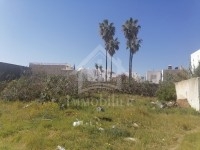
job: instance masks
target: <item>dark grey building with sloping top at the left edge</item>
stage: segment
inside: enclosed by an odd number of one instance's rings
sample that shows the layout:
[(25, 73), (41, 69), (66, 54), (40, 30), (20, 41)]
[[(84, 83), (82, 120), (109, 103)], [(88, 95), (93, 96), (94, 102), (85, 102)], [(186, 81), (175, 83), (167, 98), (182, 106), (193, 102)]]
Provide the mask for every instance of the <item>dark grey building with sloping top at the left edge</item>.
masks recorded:
[(0, 62), (0, 81), (14, 80), (28, 72), (28, 67)]

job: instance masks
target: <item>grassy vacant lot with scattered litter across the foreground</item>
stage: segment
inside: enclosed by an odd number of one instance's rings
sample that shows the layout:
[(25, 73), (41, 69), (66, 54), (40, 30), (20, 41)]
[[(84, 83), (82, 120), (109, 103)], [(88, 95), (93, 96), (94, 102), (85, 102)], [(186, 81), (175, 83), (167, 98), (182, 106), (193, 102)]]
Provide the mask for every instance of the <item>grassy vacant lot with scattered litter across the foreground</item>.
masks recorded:
[[(160, 109), (152, 101), (108, 93), (70, 101), (65, 109), (53, 102), (1, 101), (0, 149), (200, 149), (200, 114)], [(83, 123), (73, 126), (78, 120)]]

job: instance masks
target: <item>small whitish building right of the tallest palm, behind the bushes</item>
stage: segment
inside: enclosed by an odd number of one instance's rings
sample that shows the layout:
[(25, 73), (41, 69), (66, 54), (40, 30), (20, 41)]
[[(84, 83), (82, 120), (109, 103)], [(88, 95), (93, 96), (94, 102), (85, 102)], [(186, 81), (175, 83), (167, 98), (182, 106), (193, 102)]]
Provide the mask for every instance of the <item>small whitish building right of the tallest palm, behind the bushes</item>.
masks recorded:
[(162, 79), (161, 71), (147, 71), (146, 73), (146, 80), (151, 83), (159, 84), (161, 79)]

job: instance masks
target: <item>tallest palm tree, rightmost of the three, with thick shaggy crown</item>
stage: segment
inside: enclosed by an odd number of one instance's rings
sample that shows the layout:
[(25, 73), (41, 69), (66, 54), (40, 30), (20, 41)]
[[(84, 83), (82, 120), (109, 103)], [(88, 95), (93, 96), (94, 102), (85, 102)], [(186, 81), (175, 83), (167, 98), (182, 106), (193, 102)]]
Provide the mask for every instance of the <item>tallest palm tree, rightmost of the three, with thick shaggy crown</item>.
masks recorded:
[(139, 29), (141, 27), (140, 25), (138, 25), (138, 20), (133, 20), (132, 18), (130, 18), (124, 23), (124, 25), (122, 25), (122, 28), (124, 36), (127, 39), (126, 42), (127, 49), (130, 50), (130, 55), (129, 55), (129, 84), (130, 84), (132, 78), (133, 55), (139, 50), (142, 42), (142, 40), (138, 39), (137, 37)]

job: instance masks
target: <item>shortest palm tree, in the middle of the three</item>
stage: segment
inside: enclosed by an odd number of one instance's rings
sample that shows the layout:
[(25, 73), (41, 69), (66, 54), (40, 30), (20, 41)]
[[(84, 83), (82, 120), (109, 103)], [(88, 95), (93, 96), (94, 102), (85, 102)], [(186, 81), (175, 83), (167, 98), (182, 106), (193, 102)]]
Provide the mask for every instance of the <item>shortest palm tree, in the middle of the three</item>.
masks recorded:
[(110, 68), (111, 68), (111, 71), (110, 71), (110, 79), (112, 78), (112, 57), (113, 55), (115, 54), (116, 50), (119, 49), (119, 41), (118, 39), (112, 39), (109, 41), (108, 45), (107, 45), (107, 49), (108, 49), (108, 53), (110, 54), (111, 56), (111, 64), (110, 64)]

